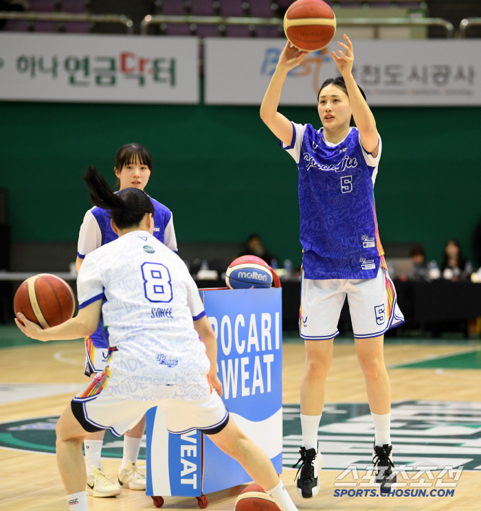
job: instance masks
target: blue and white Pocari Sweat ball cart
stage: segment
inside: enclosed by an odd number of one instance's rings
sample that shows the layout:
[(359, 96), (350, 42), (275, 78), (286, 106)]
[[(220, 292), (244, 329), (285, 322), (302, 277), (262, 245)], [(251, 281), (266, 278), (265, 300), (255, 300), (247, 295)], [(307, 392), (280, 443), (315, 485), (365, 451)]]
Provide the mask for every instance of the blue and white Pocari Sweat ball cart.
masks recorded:
[[(230, 420), (282, 472), (282, 290), (200, 291), (217, 339), (218, 376)], [(164, 411), (147, 415), (147, 495), (199, 497), (251, 481), (199, 431), (168, 433)]]

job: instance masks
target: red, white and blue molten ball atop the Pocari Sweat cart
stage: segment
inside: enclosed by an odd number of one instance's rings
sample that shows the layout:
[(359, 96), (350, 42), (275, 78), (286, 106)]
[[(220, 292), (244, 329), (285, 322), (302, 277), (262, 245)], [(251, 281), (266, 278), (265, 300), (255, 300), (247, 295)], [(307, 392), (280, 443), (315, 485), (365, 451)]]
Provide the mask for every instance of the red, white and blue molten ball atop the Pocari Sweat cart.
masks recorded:
[(243, 255), (232, 261), (225, 272), (225, 284), (230, 289), (280, 287), (277, 273), (256, 255)]

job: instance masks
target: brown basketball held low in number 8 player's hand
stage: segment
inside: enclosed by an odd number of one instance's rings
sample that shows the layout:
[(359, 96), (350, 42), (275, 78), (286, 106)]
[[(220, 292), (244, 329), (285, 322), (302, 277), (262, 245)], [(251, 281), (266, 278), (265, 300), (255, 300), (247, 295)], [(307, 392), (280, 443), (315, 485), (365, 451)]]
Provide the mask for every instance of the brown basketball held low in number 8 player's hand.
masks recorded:
[(65, 280), (40, 273), (30, 277), (16, 290), (13, 308), (42, 328), (60, 325), (74, 316), (75, 296)]

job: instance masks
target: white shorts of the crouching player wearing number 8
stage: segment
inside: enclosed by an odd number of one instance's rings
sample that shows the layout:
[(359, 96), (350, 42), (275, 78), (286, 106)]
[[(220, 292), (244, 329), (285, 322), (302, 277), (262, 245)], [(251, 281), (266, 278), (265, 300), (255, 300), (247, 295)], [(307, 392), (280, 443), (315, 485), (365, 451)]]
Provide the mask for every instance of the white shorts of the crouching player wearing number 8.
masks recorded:
[(122, 436), (139, 422), (148, 409), (155, 406), (164, 409), (167, 429), (176, 435), (194, 429), (214, 435), (219, 433), (229, 420), (229, 412), (214, 389), (208, 398), (200, 401), (135, 401), (113, 396), (106, 383), (106, 374), (99, 374), (71, 401), (74, 416), (89, 433), (109, 429), (113, 435)]

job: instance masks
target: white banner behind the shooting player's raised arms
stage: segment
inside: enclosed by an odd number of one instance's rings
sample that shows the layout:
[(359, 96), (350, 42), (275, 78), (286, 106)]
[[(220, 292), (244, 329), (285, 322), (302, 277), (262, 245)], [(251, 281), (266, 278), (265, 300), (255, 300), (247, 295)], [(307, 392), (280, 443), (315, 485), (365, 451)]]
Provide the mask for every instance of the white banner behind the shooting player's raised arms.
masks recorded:
[[(326, 78), (339, 76), (328, 47), (289, 72), (281, 105), (317, 104)], [(205, 103), (260, 105), (284, 39), (205, 40)], [(353, 41), (353, 75), (373, 106), (481, 105), (481, 41)]]

